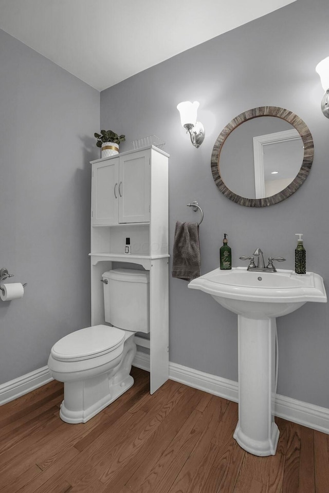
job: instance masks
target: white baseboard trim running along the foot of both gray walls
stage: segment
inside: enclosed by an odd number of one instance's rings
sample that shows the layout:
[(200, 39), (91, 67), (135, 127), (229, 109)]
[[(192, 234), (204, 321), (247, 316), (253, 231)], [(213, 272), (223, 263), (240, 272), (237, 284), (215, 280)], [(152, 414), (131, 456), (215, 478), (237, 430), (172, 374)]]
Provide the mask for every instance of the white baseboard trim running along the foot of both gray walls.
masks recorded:
[[(149, 354), (137, 351), (133, 366), (150, 371)], [(229, 401), (238, 401), (238, 384), (232, 380), (171, 362), (169, 362), (169, 378), (189, 387), (218, 395)], [(52, 377), (50, 376), (48, 367), (44, 366), (19, 378), (15, 378), (10, 382), (6, 382), (0, 385), (0, 405), (13, 401), (17, 397), (27, 394), (51, 380)], [(314, 404), (297, 401), (296, 399), (277, 394), (275, 414), (293, 423), (298, 423), (329, 434), (329, 409), (325, 407), (315, 406)]]

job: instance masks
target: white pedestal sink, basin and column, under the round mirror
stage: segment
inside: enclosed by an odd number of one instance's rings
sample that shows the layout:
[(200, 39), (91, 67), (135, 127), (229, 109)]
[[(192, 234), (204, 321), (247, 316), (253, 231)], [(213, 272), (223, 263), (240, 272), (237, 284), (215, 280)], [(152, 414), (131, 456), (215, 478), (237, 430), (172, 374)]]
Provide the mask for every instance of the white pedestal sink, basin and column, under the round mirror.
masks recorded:
[(276, 317), (307, 301), (327, 301), (323, 279), (314, 272), (251, 272), (215, 269), (193, 279), (191, 289), (210, 294), (237, 314), (239, 422), (233, 437), (256, 456), (276, 453), (279, 429), (274, 421), (276, 396)]

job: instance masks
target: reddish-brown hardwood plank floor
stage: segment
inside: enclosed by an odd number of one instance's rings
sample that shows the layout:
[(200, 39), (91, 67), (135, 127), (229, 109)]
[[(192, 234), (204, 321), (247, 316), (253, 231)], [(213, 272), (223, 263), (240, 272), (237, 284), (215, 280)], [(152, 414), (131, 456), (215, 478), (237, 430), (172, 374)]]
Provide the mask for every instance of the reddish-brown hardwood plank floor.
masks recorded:
[(277, 419), (275, 456), (232, 437), (237, 404), (149, 374), (85, 424), (59, 418), (50, 382), (0, 407), (2, 493), (328, 493), (329, 435)]

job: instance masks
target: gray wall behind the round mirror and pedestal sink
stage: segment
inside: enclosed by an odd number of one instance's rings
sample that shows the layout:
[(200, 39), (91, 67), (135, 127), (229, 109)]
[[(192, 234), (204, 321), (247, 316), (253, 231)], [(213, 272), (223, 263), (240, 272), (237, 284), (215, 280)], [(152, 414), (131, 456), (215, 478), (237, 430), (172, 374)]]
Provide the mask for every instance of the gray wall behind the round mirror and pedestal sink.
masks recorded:
[[(265, 17), (181, 53), (101, 93), (101, 128), (136, 138), (156, 134), (170, 158), (170, 243), (175, 221), (197, 219), (186, 204), (197, 200), (202, 272), (218, 266), (228, 233), (233, 265), (261, 247), (294, 268), (294, 233), (304, 233), (307, 269), (329, 287), (329, 120), (321, 112), (323, 90), (316, 64), (328, 55), (327, 0), (299, 0)], [(141, 53), (142, 56), (142, 53)], [(177, 103), (200, 102), (206, 138), (195, 149), (180, 126)], [(236, 115), (273, 105), (297, 113), (315, 143), (312, 170), (296, 194), (277, 205), (248, 208), (222, 195), (210, 171), (213, 144)], [(170, 247), (172, 251), (172, 247)], [(282, 266), (280, 266), (282, 267)], [(278, 392), (329, 408), (328, 304), (304, 305), (278, 319)], [(170, 280), (170, 361), (237, 380), (236, 316), (209, 296)]]

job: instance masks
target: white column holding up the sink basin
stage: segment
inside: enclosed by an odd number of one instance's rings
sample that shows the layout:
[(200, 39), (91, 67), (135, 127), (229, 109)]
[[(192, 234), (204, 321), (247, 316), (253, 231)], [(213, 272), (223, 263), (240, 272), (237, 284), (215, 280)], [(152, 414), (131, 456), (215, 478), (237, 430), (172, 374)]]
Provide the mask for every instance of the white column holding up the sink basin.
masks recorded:
[(233, 437), (255, 456), (276, 453), (276, 319), (238, 315), (239, 422)]

